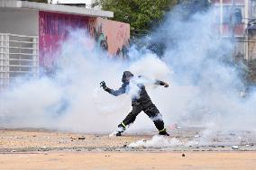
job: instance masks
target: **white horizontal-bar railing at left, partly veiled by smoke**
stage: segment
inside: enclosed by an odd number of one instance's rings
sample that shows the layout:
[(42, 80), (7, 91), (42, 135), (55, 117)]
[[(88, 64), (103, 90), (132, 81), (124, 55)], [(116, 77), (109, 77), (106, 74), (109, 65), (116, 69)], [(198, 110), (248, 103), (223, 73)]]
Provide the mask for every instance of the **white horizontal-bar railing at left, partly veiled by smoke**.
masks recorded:
[(39, 74), (38, 37), (0, 33), (0, 90)]

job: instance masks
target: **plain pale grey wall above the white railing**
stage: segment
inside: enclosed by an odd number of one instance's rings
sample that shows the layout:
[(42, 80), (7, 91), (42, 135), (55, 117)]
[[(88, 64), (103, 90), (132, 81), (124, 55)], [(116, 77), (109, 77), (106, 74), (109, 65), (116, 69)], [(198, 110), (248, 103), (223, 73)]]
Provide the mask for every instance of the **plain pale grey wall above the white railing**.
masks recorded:
[(38, 12), (0, 8), (0, 33), (38, 36)]

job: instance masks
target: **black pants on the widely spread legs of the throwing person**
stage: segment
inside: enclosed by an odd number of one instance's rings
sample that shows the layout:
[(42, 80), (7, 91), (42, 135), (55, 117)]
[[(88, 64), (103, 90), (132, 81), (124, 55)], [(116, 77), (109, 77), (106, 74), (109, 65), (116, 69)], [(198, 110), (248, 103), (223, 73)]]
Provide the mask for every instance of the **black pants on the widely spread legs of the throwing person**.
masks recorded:
[(126, 116), (126, 118), (123, 120), (123, 122), (118, 125), (119, 130), (121, 132), (123, 132), (125, 130), (126, 126), (133, 123), (133, 121), (136, 120), (137, 115), (142, 111), (145, 112), (151, 118), (151, 121), (154, 122), (154, 124), (158, 130), (164, 129), (164, 122), (162, 121), (162, 116), (161, 116), (158, 108), (152, 103), (148, 107), (143, 107), (142, 104), (133, 105), (132, 112), (130, 112)]

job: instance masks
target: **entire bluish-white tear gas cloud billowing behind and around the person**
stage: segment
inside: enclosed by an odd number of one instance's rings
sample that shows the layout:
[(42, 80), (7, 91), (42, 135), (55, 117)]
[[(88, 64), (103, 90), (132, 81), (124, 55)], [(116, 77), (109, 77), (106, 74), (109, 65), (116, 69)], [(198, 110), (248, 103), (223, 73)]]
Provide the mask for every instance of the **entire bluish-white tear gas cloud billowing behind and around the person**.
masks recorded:
[[(150, 50), (132, 47), (131, 59), (98, 53), (84, 31), (71, 31), (59, 53), (54, 77), (43, 76), (10, 87), (0, 94), (0, 126), (47, 128), (105, 133), (115, 130), (131, 110), (132, 94), (114, 97), (99, 82), (118, 88), (124, 70), (143, 80), (169, 126), (205, 126), (208, 130), (255, 130), (255, 92), (242, 98), (241, 72), (232, 62), (232, 43), (218, 36), (215, 12), (196, 13), (183, 20), (174, 9), (158, 31), (145, 39), (164, 43), (162, 58)], [(155, 88), (154, 79), (170, 83)], [(137, 80), (134, 80), (135, 82)], [(140, 114), (129, 130), (153, 129)]]

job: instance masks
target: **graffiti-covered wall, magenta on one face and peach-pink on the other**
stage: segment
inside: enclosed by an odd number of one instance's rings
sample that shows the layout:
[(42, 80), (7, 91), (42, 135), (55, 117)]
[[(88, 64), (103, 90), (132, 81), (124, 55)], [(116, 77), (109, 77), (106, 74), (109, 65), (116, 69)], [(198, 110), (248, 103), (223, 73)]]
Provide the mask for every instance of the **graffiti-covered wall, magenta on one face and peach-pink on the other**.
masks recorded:
[(96, 40), (94, 48), (107, 50), (109, 56), (125, 57), (129, 46), (130, 25), (102, 18), (64, 13), (39, 13), (40, 66), (54, 67), (61, 42), (70, 30), (83, 29)]

